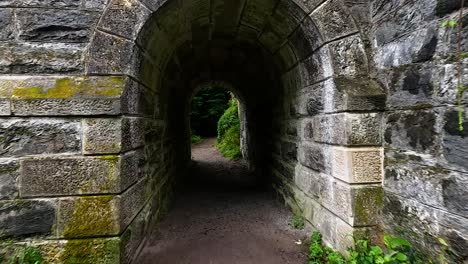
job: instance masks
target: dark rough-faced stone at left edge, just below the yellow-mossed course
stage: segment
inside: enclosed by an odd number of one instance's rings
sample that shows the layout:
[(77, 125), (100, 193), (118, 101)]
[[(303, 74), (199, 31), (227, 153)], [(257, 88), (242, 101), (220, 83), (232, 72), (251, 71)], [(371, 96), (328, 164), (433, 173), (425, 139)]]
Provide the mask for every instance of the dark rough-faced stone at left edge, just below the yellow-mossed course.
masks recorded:
[(1, 119), (0, 156), (77, 153), (81, 124), (74, 119)]

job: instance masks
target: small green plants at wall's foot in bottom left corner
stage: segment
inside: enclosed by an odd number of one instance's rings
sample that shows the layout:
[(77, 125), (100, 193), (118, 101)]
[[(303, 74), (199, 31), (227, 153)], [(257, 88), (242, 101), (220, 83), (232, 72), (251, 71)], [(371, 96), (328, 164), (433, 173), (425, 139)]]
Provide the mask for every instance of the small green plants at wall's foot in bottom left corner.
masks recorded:
[(12, 241), (0, 244), (0, 263), (42, 264), (42, 253), (36, 247), (13, 245)]

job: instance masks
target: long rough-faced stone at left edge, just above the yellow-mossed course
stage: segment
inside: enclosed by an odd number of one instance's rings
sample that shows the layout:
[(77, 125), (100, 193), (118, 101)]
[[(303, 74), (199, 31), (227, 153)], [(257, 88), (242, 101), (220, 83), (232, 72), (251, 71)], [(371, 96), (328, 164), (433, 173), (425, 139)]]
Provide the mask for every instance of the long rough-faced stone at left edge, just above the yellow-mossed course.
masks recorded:
[(76, 74), (82, 72), (81, 43), (0, 43), (2, 74)]

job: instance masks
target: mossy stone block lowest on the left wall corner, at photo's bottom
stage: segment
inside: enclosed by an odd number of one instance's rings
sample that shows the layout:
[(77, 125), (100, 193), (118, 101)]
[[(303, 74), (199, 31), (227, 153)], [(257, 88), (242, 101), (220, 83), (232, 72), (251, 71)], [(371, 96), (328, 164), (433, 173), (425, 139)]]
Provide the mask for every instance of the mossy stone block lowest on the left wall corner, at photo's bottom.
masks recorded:
[(60, 260), (65, 264), (120, 263), (120, 239), (69, 240), (64, 246)]

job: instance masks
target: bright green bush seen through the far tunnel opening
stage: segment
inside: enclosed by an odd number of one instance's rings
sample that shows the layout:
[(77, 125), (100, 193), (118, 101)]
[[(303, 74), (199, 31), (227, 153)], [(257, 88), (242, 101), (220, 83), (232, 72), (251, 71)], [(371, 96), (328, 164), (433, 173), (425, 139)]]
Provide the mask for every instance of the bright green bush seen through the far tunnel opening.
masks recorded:
[(221, 154), (232, 160), (242, 158), (240, 149), (240, 120), (237, 100), (231, 99), (229, 107), (218, 121), (218, 143)]

